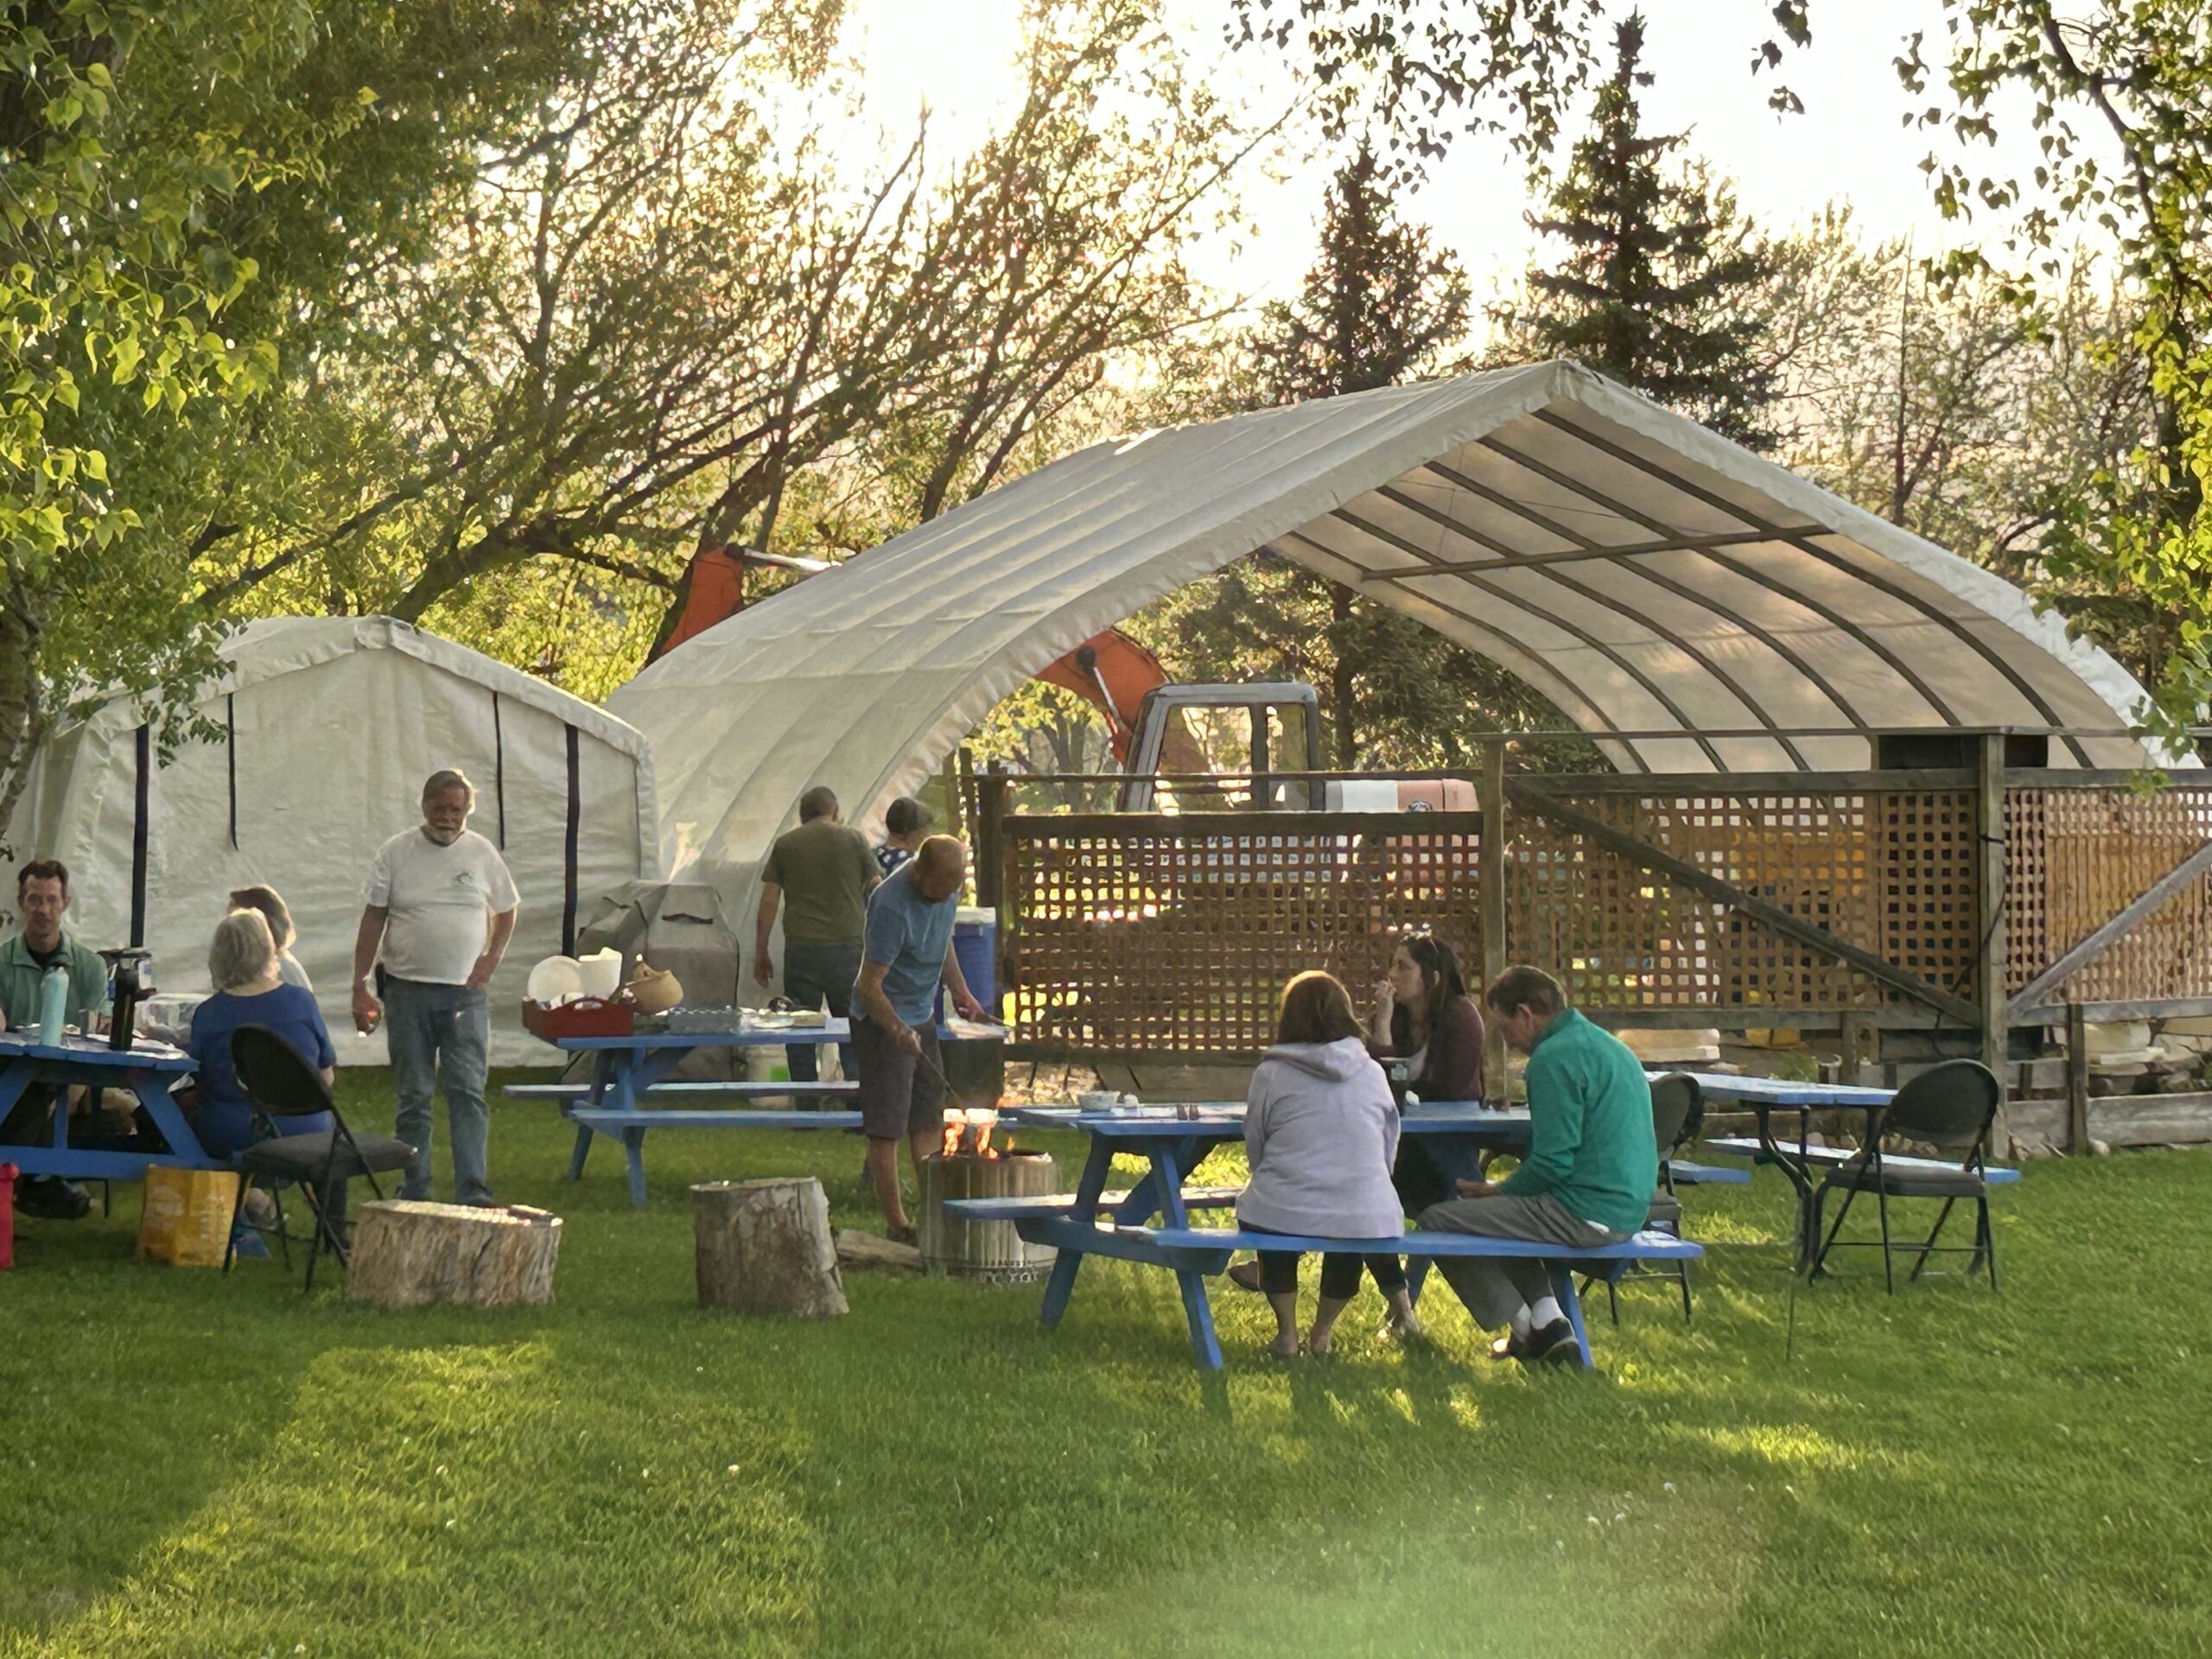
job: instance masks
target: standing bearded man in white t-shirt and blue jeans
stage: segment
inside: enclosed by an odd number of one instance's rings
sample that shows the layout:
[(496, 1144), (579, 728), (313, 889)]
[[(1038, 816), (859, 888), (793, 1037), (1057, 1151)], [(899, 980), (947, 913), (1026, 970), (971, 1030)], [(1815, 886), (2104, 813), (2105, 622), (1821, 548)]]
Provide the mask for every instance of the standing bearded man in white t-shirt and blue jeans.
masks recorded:
[[(453, 1199), (491, 1203), (484, 987), (515, 933), (520, 900), (500, 849), (469, 830), (473, 807), (476, 785), (467, 776), (431, 772), (422, 823), (376, 852), (354, 936), (354, 1029), (367, 1035), (378, 1018), (387, 1022), (400, 1099), (394, 1135), (416, 1148), (403, 1199), (429, 1197), (431, 1091), (442, 1082)], [(383, 971), (372, 987), (378, 949)]]

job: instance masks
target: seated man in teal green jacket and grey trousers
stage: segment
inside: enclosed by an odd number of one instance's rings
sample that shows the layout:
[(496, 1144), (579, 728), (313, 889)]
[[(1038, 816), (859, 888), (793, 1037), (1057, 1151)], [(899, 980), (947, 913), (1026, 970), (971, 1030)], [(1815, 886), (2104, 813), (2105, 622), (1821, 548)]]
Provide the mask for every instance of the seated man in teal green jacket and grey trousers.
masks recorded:
[[(1509, 1046), (1528, 1055), (1528, 1155), (1504, 1181), (1460, 1181), (1460, 1197), (1422, 1210), (1433, 1232), (1540, 1243), (1619, 1243), (1650, 1214), (1659, 1181), (1652, 1091), (1619, 1037), (1571, 1006), (1559, 982), (1513, 967), (1482, 995)], [(1535, 1259), (1438, 1256), (1467, 1312), (1506, 1334), (1495, 1358), (1575, 1356), (1575, 1327)]]

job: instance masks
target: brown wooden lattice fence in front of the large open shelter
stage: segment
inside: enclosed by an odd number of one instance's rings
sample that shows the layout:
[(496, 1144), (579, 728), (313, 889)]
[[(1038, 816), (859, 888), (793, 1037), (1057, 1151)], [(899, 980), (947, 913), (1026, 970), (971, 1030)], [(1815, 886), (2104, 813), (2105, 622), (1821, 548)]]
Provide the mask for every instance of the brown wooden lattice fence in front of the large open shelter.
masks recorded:
[[(1982, 838), (1971, 774), (1893, 776), (1542, 779), (1542, 799), (1520, 790), (1504, 818), (1504, 956), (1551, 967), (1615, 1024), (1971, 1026), (1962, 1004), (1982, 1002), (1995, 938), (1980, 860), (1997, 838)], [(1571, 805), (1566, 821), (1544, 801)], [(1469, 980), (1482, 971), (1482, 814), (1009, 816), (1000, 834), (1002, 973), (1037, 1053), (1254, 1053), (1292, 973), (1325, 967), (1365, 998), (1409, 927), (1444, 936)], [(2006, 993), (2208, 841), (2212, 785), (2146, 796), (2110, 776), (2015, 774)], [(2212, 1000), (2212, 874), (2035, 1013), (2062, 1000)]]

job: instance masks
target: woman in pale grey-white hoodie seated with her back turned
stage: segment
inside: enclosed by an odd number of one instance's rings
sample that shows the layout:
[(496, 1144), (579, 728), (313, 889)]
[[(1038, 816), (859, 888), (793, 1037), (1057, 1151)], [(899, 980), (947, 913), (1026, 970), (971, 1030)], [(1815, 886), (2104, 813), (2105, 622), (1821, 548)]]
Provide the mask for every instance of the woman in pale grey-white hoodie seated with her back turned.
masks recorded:
[[(1367, 1053), (1352, 995), (1327, 973), (1301, 973), (1283, 987), (1274, 1048), (1245, 1091), (1245, 1152), (1252, 1181), (1237, 1199), (1237, 1225), (1248, 1232), (1294, 1232), (1323, 1239), (1396, 1239), (1405, 1210), (1391, 1186), (1398, 1152), (1398, 1108), (1383, 1068)], [(1305, 1336), (1310, 1354), (1329, 1352), (1329, 1332), (1360, 1287), (1363, 1259), (1321, 1259), (1321, 1305)], [(1413, 1336), (1420, 1325), (1396, 1254), (1365, 1256), (1376, 1290), (1389, 1298), (1387, 1332)], [(1259, 1254), (1261, 1290), (1274, 1307), (1270, 1354), (1298, 1354), (1298, 1256)]]

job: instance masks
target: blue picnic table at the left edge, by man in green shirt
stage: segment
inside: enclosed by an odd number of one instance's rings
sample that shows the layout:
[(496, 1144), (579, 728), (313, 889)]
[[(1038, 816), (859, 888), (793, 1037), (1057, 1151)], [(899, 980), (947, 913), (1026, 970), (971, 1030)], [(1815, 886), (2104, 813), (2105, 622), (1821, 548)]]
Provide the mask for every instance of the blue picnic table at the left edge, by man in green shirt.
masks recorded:
[[(153, 1164), (179, 1170), (230, 1168), (201, 1148), (170, 1093), (190, 1071), (192, 1057), (166, 1042), (139, 1040), (128, 1048), (108, 1048), (106, 1037), (62, 1037), (46, 1046), (31, 1031), (0, 1031), (0, 1121), (15, 1110), (31, 1084), (49, 1084), (62, 1095), (55, 1102), (53, 1139), (0, 1144), (0, 1164), (13, 1164), (24, 1175), (60, 1175), (71, 1181), (142, 1181)], [(166, 1146), (71, 1146), (66, 1099), (71, 1088), (124, 1091), (153, 1119)]]

